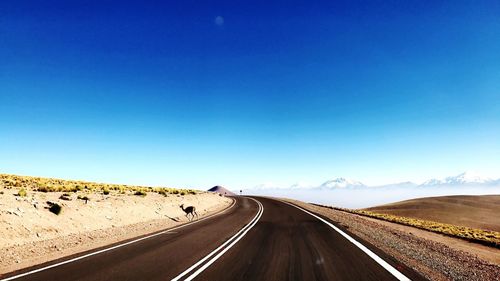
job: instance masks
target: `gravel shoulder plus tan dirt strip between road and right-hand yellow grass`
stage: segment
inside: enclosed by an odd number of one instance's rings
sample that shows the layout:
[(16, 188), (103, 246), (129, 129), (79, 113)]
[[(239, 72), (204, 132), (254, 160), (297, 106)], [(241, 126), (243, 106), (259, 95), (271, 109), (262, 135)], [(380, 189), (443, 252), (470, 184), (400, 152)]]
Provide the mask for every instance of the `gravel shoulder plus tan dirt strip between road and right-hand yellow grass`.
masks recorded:
[(373, 218), (285, 200), (330, 218), (430, 280), (498, 280), (500, 250)]

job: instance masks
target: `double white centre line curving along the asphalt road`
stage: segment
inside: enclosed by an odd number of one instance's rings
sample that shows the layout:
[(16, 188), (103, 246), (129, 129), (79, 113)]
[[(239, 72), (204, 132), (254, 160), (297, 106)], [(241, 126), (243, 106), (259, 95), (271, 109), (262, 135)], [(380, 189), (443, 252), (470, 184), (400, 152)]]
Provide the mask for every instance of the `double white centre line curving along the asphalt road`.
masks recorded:
[[(264, 212), (264, 206), (259, 201), (255, 200), (253, 198), (250, 198), (250, 197), (246, 197), (246, 198), (254, 200), (255, 202), (257, 202), (257, 206), (259, 206), (259, 211), (255, 215), (255, 217), (245, 227), (243, 227), (240, 231), (238, 231), (238, 233), (236, 233), (229, 240), (227, 240), (224, 244), (220, 245), (219, 247), (217, 247), (217, 249), (213, 250), (210, 254), (208, 254), (207, 256), (205, 256), (203, 259), (201, 259), (197, 263), (193, 264), (191, 267), (189, 267), (184, 272), (182, 272), (181, 274), (179, 274), (177, 277), (175, 277), (174, 279), (172, 279), (172, 281), (178, 281), (178, 280), (180, 280), (183, 276), (185, 276), (190, 271), (192, 271), (193, 269), (195, 269), (196, 267), (198, 267), (200, 264), (202, 264), (203, 262), (205, 262), (207, 259), (209, 259), (211, 256), (213, 256), (215, 253), (217, 253), (220, 249), (224, 248), (224, 246), (226, 246), (228, 243), (232, 242), (231, 245), (227, 246), (223, 251), (221, 251), (219, 254), (217, 254), (210, 261), (208, 261), (206, 264), (204, 264), (202, 267), (200, 267), (198, 270), (196, 270), (195, 272), (193, 272), (190, 276), (188, 276), (184, 280), (185, 281), (186, 280), (192, 280), (193, 278), (195, 278), (198, 274), (200, 274), (201, 272), (203, 272), (203, 270), (205, 270), (212, 263), (214, 263), (218, 258), (220, 258), (227, 250), (229, 250), (232, 246), (234, 246), (234, 244), (236, 244), (243, 236), (245, 236), (245, 234), (259, 221), (260, 217), (262, 216), (262, 213)], [(240, 236), (238, 237), (238, 235), (240, 235)]]

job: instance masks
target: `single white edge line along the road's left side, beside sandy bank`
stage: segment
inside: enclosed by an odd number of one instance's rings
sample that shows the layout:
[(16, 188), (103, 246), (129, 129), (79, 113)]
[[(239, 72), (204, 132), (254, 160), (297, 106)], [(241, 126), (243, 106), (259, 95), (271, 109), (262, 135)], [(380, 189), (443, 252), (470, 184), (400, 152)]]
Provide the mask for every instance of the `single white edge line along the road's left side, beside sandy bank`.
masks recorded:
[(51, 264), (51, 265), (48, 265), (48, 266), (45, 266), (45, 267), (42, 267), (42, 268), (34, 269), (32, 271), (28, 271), (28, 272), (25, 272), (25, 273), (14, 275), (14, 276), (11, 276), (11, 277), (8, 277), (8, 278), (0, 279), (0, 281), (14, 280), (14, 279), (17, 279), (17, 278), (20, 278), (20, 277), (24, 277), (24, 276), (33, 274), (33, 273), (37, 273), (37, 272), (44, 271), (44, 270), (47, 270), (47, 269), (50, 269), (50, 268), (58, 267), (58, 266), (61, 266), (63, 264), (75, 262), (77, 260), (81, 260), (81, 259), (84, 259), (84, 258), (88, 258), (90, 256), (94, 256), (94, 255), (101, 254), (101, 253), (104, 253), (104, 252), (107, 252), (107, 251), (111, 251), (111, 250), (114, 250), (114, 249), (117, 249), (117, 248), (120, 248), (120, 247), (123, 247), (123, 246), (127, 246), (127, 245), (130, 245), (130, 244), (133, 244), (133, 243), (145, 240), (145, 239), (149, 239), (149, 238), (152, 238), (152, 237), (155, 237), (155, 236), (158, 236), (158, 235), (165, 234), (165, 233), (170, 232), (172, 230), (177, 230), (179, 228), (183, 228), (183, 227), (186, 227), (188, 225), (192, 225), (192, 224), (204, 221), (204, 220), (209, 219), (209, 218), (214, 217), (214, 216), (221, 215), (221, 214), (229, 211), (229, 209), (233, 208), (234, 205), (236, 204), (236, 200), (233, 199), (233, 198), (231, 198), (231, 199), (233, 200), (233, 203), (231, 204), (231, 206), (229, 206), (228, 208), (224, 209), (223, 211), (221, 211), (219, 213), (212, 214), (212, 215), (210, 215), (208, 217), (204, 217), (204, 218), (202, 218), (200, 220), (192, 221), (192, 222), (189, 222), (189, 223), (186, 223), (186, 224), (174, 227), (174, 228), (170, 228), (170, 229), (167, 229), (167, 230), (155, 233), (155, 234), (151, 234), (151, 235), (148, 235), (148, 236), (145, 236), (145, 237), (141, 237), (141, 238), (138, 238), (138, 239), (135, 239), (135, 240), (132, 240), (132, 241), (128, 241), (128, 242), (125, 242), (123, 244), (115, 245), (113, 247), (109, 247), (109, 248), (105, 248), (105, 249), (102, 249), (102, 250), (99, 250), (99, 251), (96, 251), (96, 252), (88, 253), (88, 254), (83, 255), (83, 256), (79, 256), (79, 257), (72, 258), (72, 259), (69, 259), (69, 260), (65, 260), (65, 261), (62, 261), (62, 262), (59, 262), (59, 263)]

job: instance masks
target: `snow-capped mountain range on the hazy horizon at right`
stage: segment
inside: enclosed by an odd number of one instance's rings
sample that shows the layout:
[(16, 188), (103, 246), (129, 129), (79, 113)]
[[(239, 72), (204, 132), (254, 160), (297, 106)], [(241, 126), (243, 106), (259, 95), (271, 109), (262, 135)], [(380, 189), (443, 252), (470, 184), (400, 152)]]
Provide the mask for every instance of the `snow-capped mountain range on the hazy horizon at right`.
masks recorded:
[(410, 188), (410, 187), (472, 187), (472, 186), (500, 186), (500, 179), (483, 177), (474, 172), (464, 172), (456, 176), (443, 179), (429, 179), (422, 184), (413, 182), (401, 182), (380, 186), (367, 186), (360, 181), (346, 179), (343, 177), (325, 181), (319, 186), (296, 183), (291, 186), (278, 186), (272, 183), (260, 184), (254, 190), (262, 189), (292, 189), (292, 190), (334, 190), (334, 189), (359, 189), (359, 188)]

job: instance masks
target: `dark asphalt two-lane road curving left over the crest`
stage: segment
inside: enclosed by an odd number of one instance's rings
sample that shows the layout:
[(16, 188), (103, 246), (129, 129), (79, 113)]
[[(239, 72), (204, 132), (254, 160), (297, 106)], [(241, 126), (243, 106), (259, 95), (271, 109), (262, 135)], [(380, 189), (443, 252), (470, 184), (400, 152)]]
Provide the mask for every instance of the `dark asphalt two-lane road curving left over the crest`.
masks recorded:
[(389, 269), (384, 268), (321, 218), (281, 201), (255, 199), (236, 197), (232, 208), (209, 219), (1, 278), (26, 274), (14, 280), (422, 279), (365, 244), (389, 263)]

